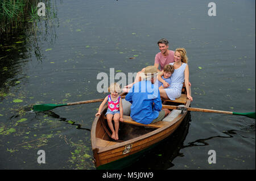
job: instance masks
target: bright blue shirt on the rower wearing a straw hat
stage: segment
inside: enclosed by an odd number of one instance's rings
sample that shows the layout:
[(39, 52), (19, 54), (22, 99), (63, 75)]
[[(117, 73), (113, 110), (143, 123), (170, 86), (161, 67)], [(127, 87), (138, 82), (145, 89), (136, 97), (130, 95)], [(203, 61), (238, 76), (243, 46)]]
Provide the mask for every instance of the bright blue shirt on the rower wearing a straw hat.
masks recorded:
[[(125, 100), (131, 103), (131, 118), (137, 123), (150, 124), (162, 110), (158, 86), (150, 81), (137, 82), (130, 89)], [(154, 104), (153, 104), (154, 103)]]

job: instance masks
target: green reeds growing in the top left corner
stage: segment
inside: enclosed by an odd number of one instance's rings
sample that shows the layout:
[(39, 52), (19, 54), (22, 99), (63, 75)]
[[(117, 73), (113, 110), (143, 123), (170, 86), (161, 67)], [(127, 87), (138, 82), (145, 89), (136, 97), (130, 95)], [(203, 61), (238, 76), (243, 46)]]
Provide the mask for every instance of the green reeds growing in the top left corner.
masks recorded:
[(39, 0), (1, 0), (0, 35), (14, 34), (24, 22), (35, 19), (38, 3)]

